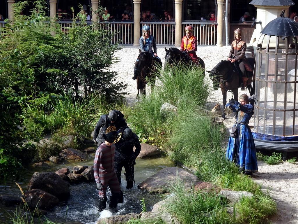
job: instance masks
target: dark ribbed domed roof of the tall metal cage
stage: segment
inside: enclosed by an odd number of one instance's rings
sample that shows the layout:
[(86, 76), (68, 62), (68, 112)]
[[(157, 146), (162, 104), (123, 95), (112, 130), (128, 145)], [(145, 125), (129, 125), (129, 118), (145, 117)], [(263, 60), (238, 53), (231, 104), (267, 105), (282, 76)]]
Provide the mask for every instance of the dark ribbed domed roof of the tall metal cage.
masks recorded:
[(298, 36), (298, 23), (290, 18), (285, 18), (284, 13), (285, 10), (280, 18), (269, 22), (260, 33), (269, 36)]

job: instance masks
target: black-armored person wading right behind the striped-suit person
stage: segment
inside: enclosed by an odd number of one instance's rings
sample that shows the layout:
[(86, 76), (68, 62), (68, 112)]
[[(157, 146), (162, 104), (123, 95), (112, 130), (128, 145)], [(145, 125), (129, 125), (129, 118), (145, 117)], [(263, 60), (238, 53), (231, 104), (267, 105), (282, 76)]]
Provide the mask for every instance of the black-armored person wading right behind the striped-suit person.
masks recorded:
[[(136, 147), (135, 151), (134, 146)], [(125, 169), (126, 188), (130, 189), (134, 183), (134, 165), (136, 157), (141, 151), (139, 137), (131, 131), (130, 128), (123, 128), (122, 138), (115, 143), (114, 170), (121, 183), (121, 170)]]

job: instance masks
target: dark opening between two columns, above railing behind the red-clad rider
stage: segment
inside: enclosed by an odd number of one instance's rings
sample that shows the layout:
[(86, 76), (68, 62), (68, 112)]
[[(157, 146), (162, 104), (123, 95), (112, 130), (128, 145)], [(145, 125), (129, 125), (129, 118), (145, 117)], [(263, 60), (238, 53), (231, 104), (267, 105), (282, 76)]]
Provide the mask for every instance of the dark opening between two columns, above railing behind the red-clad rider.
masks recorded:
[(212, 12), (217, 15), (216, 0), (184, 0), (182, 7), (183, 21), (210, 20)]

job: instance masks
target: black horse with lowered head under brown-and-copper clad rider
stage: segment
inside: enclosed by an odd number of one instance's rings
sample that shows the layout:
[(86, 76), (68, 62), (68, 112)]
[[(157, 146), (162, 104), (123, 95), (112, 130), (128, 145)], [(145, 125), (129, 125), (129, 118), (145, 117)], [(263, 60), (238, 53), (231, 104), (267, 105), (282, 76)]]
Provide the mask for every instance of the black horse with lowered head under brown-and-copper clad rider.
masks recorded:
[[(254, 58), (247, 59), (251, 67), (254, 67)], [(221, 93), (223, 95), (223, 105), (226, 105), (226, 92), (232, 92), (234, 99), (238, 101), (238, 88), (242, 84), (242, 79), (240, 79), (239, 72), (240, 69), (236, 69), (235, 65), (230, 61), (221, 61), (209, 72), (209, 77), (213, 82), (213, 88), (218, 90), (221, 88)], [(250, 96), (254, 94), (254, 77), (252, 72), (246, 71), (247, 77), (247, 88), (249, 90)], [(252, 85), (253, 84), (253, 85)], [(225, 118), (225, 114), (222, 115)]]

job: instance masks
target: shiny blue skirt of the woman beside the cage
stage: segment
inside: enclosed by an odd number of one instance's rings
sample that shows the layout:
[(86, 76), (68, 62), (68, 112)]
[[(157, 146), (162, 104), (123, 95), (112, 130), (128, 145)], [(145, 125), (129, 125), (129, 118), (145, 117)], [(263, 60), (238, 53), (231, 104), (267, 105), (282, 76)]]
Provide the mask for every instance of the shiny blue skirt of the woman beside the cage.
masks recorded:
[(255, 173), (258, 164), (252, 131), (247, 124), (237, 125), (237, 129), (237, 137), (230, 136), (226, 158), (238, 165), (239, 169)]

